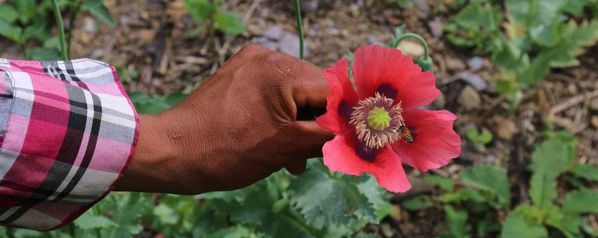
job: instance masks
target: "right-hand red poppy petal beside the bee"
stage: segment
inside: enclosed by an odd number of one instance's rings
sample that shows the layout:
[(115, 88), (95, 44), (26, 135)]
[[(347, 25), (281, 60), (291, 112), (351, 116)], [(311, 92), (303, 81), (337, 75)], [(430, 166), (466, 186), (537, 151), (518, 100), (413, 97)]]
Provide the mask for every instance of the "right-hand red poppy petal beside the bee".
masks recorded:
[(405, 163), (419, 171), (440, 168), (461, 154), (461, 138), (453, 130), (457, 118), (449, 111), (411, 110), (403, 112), (411, 129), (413, 144), (402, 140), (392, 145)]

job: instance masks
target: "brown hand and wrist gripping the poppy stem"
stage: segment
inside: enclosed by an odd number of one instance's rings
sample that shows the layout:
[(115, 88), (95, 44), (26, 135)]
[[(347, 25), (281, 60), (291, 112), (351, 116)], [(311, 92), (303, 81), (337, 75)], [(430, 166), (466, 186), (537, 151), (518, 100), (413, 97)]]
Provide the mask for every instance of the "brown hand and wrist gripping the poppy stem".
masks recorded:
[(300, 174), (334, 137), (302, 113), (326, 107), (323, 71), (243, 48), (172, 109), (139, 115), (135, 156), (116, 189), (198, 194), (249, 186), (281, 168)]

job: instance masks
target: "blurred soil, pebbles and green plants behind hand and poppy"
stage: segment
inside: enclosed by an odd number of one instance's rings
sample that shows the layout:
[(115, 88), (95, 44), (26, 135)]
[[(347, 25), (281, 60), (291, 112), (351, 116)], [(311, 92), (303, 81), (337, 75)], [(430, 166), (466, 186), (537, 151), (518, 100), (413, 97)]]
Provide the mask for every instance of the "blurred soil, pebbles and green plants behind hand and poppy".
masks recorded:
[[(135, 7), (133, 7), (135, 6)], [(285, 1), (60, 0), (69, 55), (114, 64), (139, 113), (167, 110), (251, 42), (298, 57)], [(422, 35), (463, 153), (391, 194), (312, 159), (236, 191), (111, 193), (49, 233), (0, 237), (598, 237), (598, 1), (301, 1), (306, 60)], [(0, 0), (0, 57), (58, 60), (48, 0)], [(415, 60), (416, 41), (397, 46)], [(201, 184), (197, 184), (201, 186)]]

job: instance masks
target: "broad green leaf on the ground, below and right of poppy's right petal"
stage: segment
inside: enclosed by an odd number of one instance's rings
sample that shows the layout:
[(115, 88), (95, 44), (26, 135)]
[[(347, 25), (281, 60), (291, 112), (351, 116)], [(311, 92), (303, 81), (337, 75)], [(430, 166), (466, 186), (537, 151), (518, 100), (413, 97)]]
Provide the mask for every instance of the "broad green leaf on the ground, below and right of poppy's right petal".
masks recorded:
[(461, 181), (466, 186), (496, 194), (499, 203), (511, 203), (507, 170), (495, 165), (481, 165), (461, 171)]

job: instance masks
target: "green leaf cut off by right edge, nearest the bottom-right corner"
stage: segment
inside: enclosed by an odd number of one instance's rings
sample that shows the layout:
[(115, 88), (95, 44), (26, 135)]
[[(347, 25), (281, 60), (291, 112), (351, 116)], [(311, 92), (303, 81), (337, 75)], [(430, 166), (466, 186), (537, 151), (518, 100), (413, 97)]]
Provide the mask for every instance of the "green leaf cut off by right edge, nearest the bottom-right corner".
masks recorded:
[(563, 212), (568, 214), (598, 214), (598, 191), (588, 189), (571, 191), (565, 197)]

